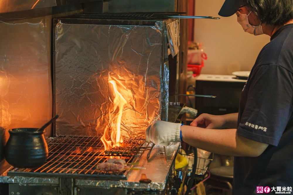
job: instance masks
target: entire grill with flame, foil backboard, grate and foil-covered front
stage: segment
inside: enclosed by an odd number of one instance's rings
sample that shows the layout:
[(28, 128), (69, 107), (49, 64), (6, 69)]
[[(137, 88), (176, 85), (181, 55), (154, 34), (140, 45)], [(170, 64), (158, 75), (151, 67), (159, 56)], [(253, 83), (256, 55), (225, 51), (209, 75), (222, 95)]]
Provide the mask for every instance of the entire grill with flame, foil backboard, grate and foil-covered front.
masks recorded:
[[(9, 170), (9, 188), (24, 194), (36, 186), (51, 194), (168, 193), (180, 143), (166, 147), (167, 159), (155, 146), (148, 162), (144, 132), (154, 120), (168, 119), (168, 56), (178, 49), (179, 20), (67, 17), (54, 19), (53, 29), (52, 106), (59, 118), (47, 139), (49, 157), (39, 168)], [(118, 148), (123, 152), (115, 153)], [(109, 158), (132, 165), (122, 172), (96, 169)], [(151, 182), (139, 182), (142, 174)], [(14, 178), (33, 186), (19, 187)]]

